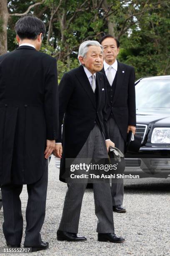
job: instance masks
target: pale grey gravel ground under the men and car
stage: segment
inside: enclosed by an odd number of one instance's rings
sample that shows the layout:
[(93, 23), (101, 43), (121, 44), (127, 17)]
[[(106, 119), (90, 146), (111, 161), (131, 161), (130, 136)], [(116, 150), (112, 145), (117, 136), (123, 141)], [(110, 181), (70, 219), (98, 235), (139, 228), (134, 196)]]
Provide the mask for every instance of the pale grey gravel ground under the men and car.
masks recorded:
[[(75, 243), (56, 239), (67, 189), (67, 185), (59, 181), (58, 175), (59, 170), (52, 157), (49, 165), (46, 217), (41, 232), (42, 240), (48, 241), (50, 248), (31, 255), (170, 255), (170, 178), (125, 180), (124, 206), (127, 212), (114, 213), (115, 233), (126, 239), (122, 244), (97, 241), (93, 192), (92, 189), (87, 189), (82, 202), (79, 225), (79, 234), (86, 236), (87, 241)], [(21, 200), (25, 218), (27, 203), (25, 186)], [(5, 247), (2, 223), (3, 210), (0, 211), (1, 248)], [(20, 255), (30, 254), (20, 253)]]

